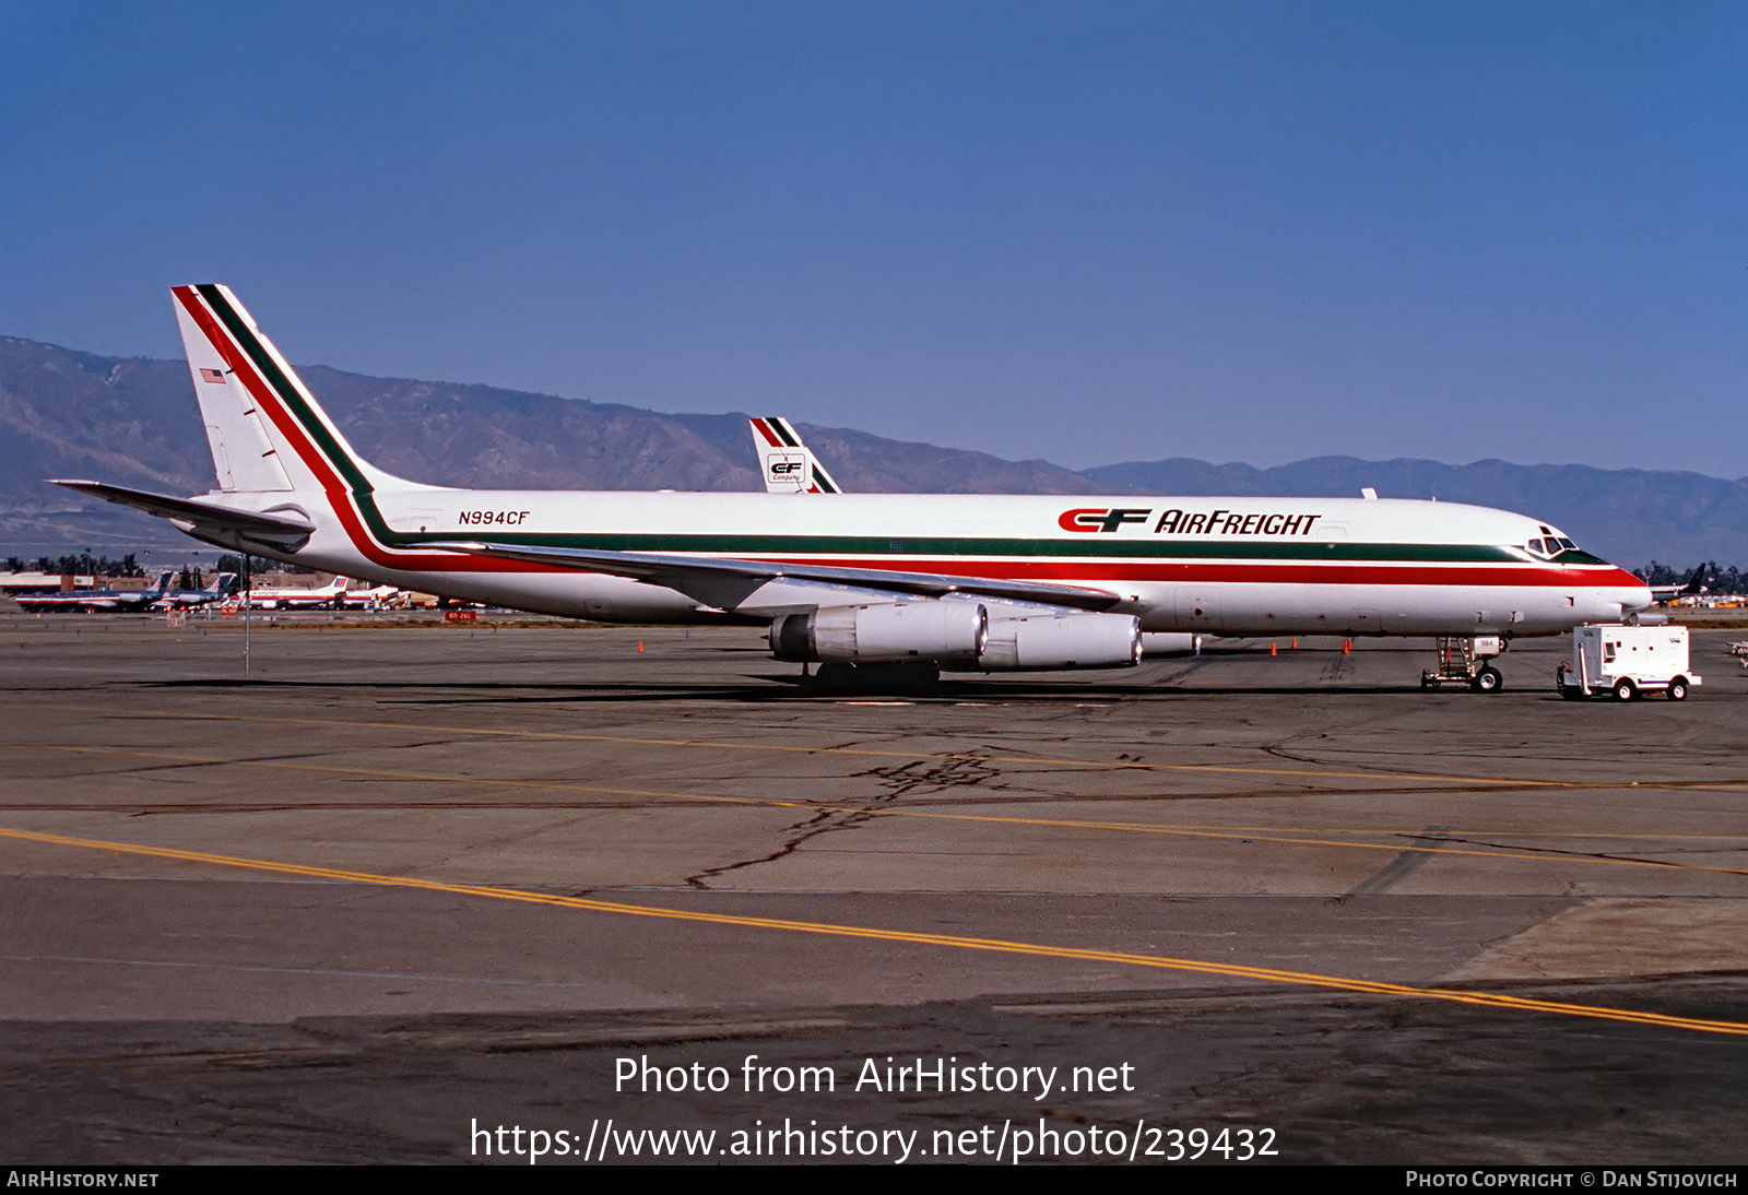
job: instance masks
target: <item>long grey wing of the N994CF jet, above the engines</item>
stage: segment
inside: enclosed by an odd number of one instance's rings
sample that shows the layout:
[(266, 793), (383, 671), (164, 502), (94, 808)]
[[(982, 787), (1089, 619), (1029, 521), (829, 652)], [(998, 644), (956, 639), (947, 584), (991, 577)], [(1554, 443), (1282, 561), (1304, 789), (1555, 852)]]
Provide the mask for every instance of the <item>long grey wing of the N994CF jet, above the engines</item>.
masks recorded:
[[(991, 577), (956, 577), (951, 573), (897, 573), (883, 568), (839, 568), (836, 564), (794, 564), (776, 561), (739, 561), (704, 556), (664, 556), (654, 552), (596, 552), (589, 549), (542, 549), (514, 543), (479, 543), (456, 540), (430, 543), (442, 552), (470, 552), (496, 556), (509, 561), (558, 564), (584, 573), (610, 573), (633, 577), (650, 585), (666, 585), (708, 606), (732, 610), (741, 601), (771, 582), (788, 582), (801, 587), (860, 589), (879, 594), (916, 594), (942, 598), (946, 594), (972, 594), (1005, 601), (1038, 603), (1068, 610), (1110, 610), (1122, 601), (1120, 594), (1082, 585), (1052, 585), (1049, 582), (1002, 580)], [(795, 601), (780, 606), (848, 606), (853, 599), (843, 592)]]

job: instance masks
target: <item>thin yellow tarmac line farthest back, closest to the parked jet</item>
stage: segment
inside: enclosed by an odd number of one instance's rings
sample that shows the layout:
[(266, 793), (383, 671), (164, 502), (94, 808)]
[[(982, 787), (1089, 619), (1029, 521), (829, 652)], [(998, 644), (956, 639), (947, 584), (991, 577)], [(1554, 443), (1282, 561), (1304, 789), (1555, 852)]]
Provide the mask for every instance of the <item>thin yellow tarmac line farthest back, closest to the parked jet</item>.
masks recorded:
[(1086, 767), (1094, 770), (1134, 770), (1134, 772), (1218, 772), (1232, 776), (1301, 776), (1313, 779), (1369, 779), (1369, 781), (1419, 781), (1426, 784), (1458, 786), (1523, 786), (1523, 788), (1741, 788), (1748, 777), (1703, 779), (1703, 781), (1552, 781), (1552, 779), (1514, 779), (1509, 776), (1440, 776), (1435, 772), (1337, 772), (1332, 769), (1288, 769), (1288, 767), (1241, 767), (1238, 763), (1147, 763), (1143, 760), (1072, 760), (1051, 758), (1044, 755), (984, 755), (979, 751), (883, 751), (876, 748), (830, 748), (830, 746), (790, 746), (785, 743), (715, 743), (703, 739), (645, 739), (617, 734), (572, 734), (565, 730), (507, 730), (502, 727), (447, 727), (423, 725), (416, 722), (365, 722), (348, 718), (266, 718), (260, 715), (218, 715), (218, 713), (157, 713), (136, 709), (112, 709), (103, 706), (40, 706), (10, 702), (7, 709), (58, 709), (65, 713), (108, 715), (115, 718), (156, 718), (166, 722), (241, 722), (253, 725), (281, 727), (344, 727), (348, 730), (416, 730), (420, 734), (467, 734), (503, 739), (545, 739), (556, 743), (621, 743), (626, 746), (661, 746), (661, 748), (701, 748), (715, 751), (780, 751), (790, 755), (858, 755), (895, 760), (977, 760), (984, 763), (1031, 763), (1049, 767)]

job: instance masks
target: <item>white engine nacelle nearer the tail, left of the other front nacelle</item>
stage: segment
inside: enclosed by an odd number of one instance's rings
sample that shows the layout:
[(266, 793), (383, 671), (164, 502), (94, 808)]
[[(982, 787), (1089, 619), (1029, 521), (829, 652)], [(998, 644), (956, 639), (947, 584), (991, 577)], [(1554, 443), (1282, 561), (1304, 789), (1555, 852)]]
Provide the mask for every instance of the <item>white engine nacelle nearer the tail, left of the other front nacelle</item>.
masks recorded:
[(780, 660), (876, 664), (937, 660), (972, 664), (989, 639), (989, 615), (974, 601), (829, 606), (771, 622)]

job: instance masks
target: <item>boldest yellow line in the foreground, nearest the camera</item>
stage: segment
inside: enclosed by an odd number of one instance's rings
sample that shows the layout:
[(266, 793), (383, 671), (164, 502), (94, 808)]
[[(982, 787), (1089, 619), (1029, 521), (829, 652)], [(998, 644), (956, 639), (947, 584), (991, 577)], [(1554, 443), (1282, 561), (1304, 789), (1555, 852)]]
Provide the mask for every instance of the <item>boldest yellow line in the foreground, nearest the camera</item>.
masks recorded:
[(953, 933), (916, 933), (911, 929), (879, 929), (874, 926), (843, 926), (822, 921), (792, 921), (787, 917), (746, 917), (738, 914), (711, 914), (711, 912), (696, 912), (685, 908), (661, 908), (656, 905), (629, 905), (617, 900), (594, 900), (589, 896), (558, 896), (552, 893), (535, 893), (521, 888), (489, 888), (484, 884), (447, 884), (444, 881), (416, 879), (411, 875), (379, 875), (374, 872), (351, 872), (330, 867), (309, 867), (304, 863), (278, 863), (273, 860), (250, 860), (232, 854), (208, 854), (205, 851), (184, 851), (178, 847), (150, 847), (135, 842), (107, 842), (101, 839), (73, 839), (59, 833), (37, 833), (31, 830), (12, 830), (7, 826), (0, 826), (0, 837), (17, 839), (23, 842), (40, 842), (47, 846), (80, 847), (87, 851), (145, 854), (163, 860), (178, 860), (184, 863), (212, 863), (217, 867), (243, 868), (253, 872), (276, 872), (280, 875), (299, 875), (304, 879), (325, 879), (348, 884), (372, 884), (378, 888), (413, 888), (428, 893), (451, 893), (460, 896), (484, 896), (488, 900), (510, 900), (530, 905), (552, 905), (558, 908), (579, 908), (586, 912), (617, 914), (624, 917), (657, 917), (666, 921), (694, 921), (713, 926), (738, 926), (743, 929), (785, 929), (790, 933), (813, 933), (813, 935), (827, 935), (837, 938), (900, 942), (905, 945), (939, 945), (939, 947), (954, 947), (960, 950), (1028, 954), (1033, 957), (1066, 959), (1075, 963), (1117, 963), (1124, 966), (1147, 966), (1147, 968), (1159, 968), (1171, 971), (1194, 971), (1199, 975), (1220, 975), (1225, 978), (1266, 980), (1269, 984), (1323, 987), (1323, 989), (1356, 992), (1365, 996), (1412, 996), (1419, 999), (1453, 1001), (1458, 1005), (1479, 1005), (1484, 1008), (1545, 1012), (1545, 1013), (1559, 1013), (1564, 1017), (1617, 1020), (1634, 1026), (1657, 1026), (1664, 1029), (1690, 1029), (1696, 1033), (1748, 1036), (1748, 1022), (1710, 1020), (1703, 1017), (1669, 1017), (1666, 1013), (1636, 1012), (1631, 1008), (1573, 1005), (1557, 999), (1507, 996), (1503, 992), (1468, 992), (1453, 987), (1414, 987), (1409, 984), (1384, 984), (1379, 980), (1346, 978), (1341, 975), (1316, 975), (1311, 971), (1281, 971), (1267, 966), (1208, 963), (1203, 959), (1178, 959), (1162, 954), (1131, 954), (1126, 950), (1059, 947), (1038, 942), (1010, 942), (1003, 938), (972, 938)]

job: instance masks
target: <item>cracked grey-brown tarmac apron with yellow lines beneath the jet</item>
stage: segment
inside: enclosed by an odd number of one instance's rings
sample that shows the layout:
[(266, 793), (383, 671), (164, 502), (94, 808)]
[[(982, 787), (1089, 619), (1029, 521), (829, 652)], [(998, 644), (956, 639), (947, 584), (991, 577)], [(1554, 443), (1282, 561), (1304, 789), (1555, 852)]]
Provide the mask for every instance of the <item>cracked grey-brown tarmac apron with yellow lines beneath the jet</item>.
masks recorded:
[(0, 618), (9, 1160), (1748, 1153), (1743, 632), (1687, 702), (1339, 639), (820, 697), (388, 622)]

